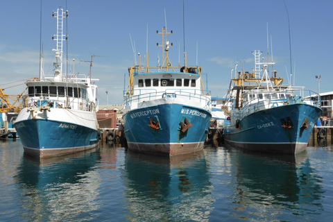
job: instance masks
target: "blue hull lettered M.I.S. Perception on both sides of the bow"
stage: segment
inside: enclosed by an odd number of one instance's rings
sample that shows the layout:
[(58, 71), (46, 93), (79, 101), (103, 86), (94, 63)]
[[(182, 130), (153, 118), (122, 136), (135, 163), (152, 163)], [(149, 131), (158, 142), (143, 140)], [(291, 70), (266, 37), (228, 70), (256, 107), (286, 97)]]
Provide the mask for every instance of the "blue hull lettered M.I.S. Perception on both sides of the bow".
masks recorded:
[[(201, 108), (165, 103), (131, 110), (123, 115), (128, 148), (142, 153), (178, 155), (203, 148), (212, 114)], [(192, 124), (185, 133), (181, 121)], [(157, 124), (150, 125), (150, 119)]]

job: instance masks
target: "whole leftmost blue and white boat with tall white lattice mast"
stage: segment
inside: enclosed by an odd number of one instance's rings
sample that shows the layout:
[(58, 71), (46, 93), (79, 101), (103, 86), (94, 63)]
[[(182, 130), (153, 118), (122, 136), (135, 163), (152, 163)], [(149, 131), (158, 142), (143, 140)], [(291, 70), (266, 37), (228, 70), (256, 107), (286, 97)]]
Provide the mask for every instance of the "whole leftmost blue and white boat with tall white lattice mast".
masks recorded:
[[(58, 8), (54, 74), (28, 80), (23, 108), (13, 124), (24, 151), (37, 157), (53, 157), (96, 147), (99, 124), (96, 118), (97, 86), (89, 76), (62, 74), (63, 22), (68, 12)], [(42, 56), (41, 56), (42, 58)], [(41, 60), (42, 61), (42, 60)], [(41, 62), (42, 67), (42, 62)]]

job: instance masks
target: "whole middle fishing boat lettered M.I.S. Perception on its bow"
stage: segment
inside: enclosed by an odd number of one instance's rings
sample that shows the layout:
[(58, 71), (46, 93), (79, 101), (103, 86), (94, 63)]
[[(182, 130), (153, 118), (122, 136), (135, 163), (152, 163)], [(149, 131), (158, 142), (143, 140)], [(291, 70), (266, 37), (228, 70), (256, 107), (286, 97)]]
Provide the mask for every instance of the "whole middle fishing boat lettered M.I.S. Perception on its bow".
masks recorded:
[[(172, 33), (172, 31), (171, 31)], [(203, 148), (211, 114), (210, 92), (204, 91), (201, 67), (173, 67), (168, 57), (167, 28), (163, 28), (163, 64), (128, 68), (123, 121), (128, 149), (142, 153), (178, 155)], [(153, 70), (153, 71), (152, 71)], [(177, 71), (176, 71), (177, 70)]]

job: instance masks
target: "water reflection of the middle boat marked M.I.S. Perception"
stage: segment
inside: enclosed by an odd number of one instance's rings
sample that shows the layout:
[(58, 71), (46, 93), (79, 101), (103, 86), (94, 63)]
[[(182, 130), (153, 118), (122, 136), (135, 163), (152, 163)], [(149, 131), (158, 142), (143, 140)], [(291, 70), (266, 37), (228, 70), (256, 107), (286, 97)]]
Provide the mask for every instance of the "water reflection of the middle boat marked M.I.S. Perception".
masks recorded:
[(214, 198), (203, 151), (174, 157), (128, 151), (125, 164), (127, 219), (209, 219)]

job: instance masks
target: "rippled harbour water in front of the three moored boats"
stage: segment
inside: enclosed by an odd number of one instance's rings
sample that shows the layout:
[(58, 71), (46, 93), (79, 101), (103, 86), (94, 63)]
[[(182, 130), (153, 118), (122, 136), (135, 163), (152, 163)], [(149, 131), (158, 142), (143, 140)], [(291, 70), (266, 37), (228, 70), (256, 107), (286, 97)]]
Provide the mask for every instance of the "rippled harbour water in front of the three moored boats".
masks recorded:
[(100, 144), (40, 161), (0, 141), (0, 200), (0, 221), (332, 221), (333, 146), (169, 159)]

